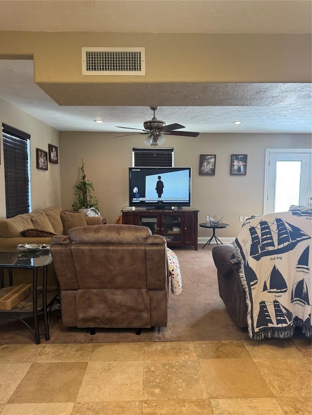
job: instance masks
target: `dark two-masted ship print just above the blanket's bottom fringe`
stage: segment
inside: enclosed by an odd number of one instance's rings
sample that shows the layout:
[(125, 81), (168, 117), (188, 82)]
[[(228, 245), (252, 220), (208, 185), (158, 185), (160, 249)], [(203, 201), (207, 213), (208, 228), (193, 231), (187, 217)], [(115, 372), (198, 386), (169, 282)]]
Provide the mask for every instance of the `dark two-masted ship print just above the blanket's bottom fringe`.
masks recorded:
[(268, 305), (271, 307), (273, 305), (272, 315), (274, 316), (273, 318), (275, 318), (275, 325), (290, 324), (292, 321), (292, 312), (287, 307), (283, 306), (283, 304), (277, 300), (273, 300), (273, 303), (260, 301), (256, 328), (269, 327), (269, 325), (274, 324), (268, 309)]

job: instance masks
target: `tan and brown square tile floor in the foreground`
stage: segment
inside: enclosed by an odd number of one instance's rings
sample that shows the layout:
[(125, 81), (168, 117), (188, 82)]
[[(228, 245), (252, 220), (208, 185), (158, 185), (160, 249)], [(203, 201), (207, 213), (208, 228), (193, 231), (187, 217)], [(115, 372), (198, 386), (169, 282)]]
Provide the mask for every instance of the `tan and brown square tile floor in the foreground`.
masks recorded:
[(307, 339), (0, 346), (1, 415), (309, 415)]

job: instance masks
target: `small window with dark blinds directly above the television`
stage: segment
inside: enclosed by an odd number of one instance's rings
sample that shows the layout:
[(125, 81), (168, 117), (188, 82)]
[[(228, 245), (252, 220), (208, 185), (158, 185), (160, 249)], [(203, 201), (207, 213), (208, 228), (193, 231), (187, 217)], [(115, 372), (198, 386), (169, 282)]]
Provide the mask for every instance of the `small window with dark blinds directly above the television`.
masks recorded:
[(137, 148), (132, 149), (133, 167), (173, 167), (173, 148)]

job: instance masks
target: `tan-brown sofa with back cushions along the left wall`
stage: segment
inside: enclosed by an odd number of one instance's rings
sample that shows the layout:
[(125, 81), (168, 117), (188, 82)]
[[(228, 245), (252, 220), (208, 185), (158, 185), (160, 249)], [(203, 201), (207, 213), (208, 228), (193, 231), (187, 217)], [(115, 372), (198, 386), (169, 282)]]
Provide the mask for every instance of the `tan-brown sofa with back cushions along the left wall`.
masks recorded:
[[(65, 234), (68, 229), (75, 226), (98, 225), (102, 220), (102, 217), (85, 217), (82, 213), (64, 211), (59, 206), (50, 206), (9, 219), (0, 219), (0, 250), (16, 250), (17, 245), (23, 243), (49, 244), (54, 234)], [(29, 281), (29, 277), (24, 276), (27, 270), (15, 270), (14, 274), (15, 284)], [(48, 268), (48, 283), (57, 284), (53, 264)]]

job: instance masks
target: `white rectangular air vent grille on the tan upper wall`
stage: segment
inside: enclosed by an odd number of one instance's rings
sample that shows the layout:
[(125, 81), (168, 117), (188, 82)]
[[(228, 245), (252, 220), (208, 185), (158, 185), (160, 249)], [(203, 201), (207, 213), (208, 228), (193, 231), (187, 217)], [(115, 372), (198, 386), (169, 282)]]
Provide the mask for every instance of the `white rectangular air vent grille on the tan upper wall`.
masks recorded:
[(145, 75), (145, 48), (81, 48), (82, 75)]

